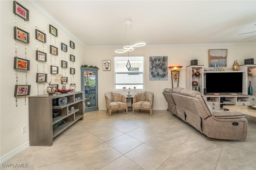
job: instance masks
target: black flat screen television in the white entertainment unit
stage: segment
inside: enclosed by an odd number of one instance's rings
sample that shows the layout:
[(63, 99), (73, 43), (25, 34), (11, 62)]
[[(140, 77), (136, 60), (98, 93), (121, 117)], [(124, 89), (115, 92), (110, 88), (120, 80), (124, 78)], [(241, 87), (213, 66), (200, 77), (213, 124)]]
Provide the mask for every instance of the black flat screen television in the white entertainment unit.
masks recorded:
[(206, 93), (242, 93), (242, 72), (211, 72), (206, 73)]

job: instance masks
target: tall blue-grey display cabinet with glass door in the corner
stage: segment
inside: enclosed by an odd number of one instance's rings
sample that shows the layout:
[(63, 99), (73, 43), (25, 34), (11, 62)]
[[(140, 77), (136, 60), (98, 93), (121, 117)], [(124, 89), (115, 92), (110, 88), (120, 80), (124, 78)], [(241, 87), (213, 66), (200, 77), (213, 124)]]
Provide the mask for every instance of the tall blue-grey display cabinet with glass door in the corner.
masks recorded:
[(98, 68), (81, 67), (85, 112), (98, 110)]

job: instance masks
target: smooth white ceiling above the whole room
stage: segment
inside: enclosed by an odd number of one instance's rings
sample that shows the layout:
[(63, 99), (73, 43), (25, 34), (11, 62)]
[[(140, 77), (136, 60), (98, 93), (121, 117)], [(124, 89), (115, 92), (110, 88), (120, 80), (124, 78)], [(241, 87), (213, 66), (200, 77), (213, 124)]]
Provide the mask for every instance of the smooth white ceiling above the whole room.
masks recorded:
[[(133, 21), (133, 43), (256, 42), (256, 37), (245, 39), (256, 32), (238, 35), (256, 31), (255, 0), (36, 2), (88, 46), (124, 45), (126, 19)], [(125, 40), (131, 43), (130, 28), (126, 34)]]

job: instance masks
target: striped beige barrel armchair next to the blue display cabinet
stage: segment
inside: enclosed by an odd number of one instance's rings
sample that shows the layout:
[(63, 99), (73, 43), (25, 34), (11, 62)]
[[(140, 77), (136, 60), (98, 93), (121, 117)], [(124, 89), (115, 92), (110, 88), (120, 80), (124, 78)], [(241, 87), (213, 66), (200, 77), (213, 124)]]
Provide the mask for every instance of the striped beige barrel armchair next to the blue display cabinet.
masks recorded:
[(128, 112), (128, 105), (126, 103), (126, 97), (120, 93), (108, 92), (105, 93), (107, 113), (111, 116), (112, 110), (126, 109)]

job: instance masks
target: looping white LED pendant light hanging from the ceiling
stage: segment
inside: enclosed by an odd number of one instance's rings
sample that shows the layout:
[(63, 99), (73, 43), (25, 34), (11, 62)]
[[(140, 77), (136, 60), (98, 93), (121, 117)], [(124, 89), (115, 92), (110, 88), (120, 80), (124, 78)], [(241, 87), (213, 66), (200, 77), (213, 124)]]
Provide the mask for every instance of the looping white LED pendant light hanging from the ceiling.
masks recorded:
[[(130, 19), (127, 19), (124, 21), (125, 23), (125, 37), (124, 39), (126, 38), (126, 28), (127, 28), (127, 25), (130, 25), (130, 29), (131, 29), (131, 34), (132, 34), (132, 20)], [(132, 36), (132, 35), (131, 35)], [(132, 38), (132, 37), (131, 37)], [(133, 42), (132, 42), (133, 44)], [(117, 49), (115, 50), (116, 53), (126, 53), (126, 52), (130, 52), (130, 51), (134, 51), (134, 47), (143, 47), (144, 45), (146, 45), (146, 43), (136, 43), (134, 45), (125, 45), (123, 47), (123, 49)], [(128, 63), (127, 63), (128, 64)], [(128, 69), (129, 70), (129, 69)]]

